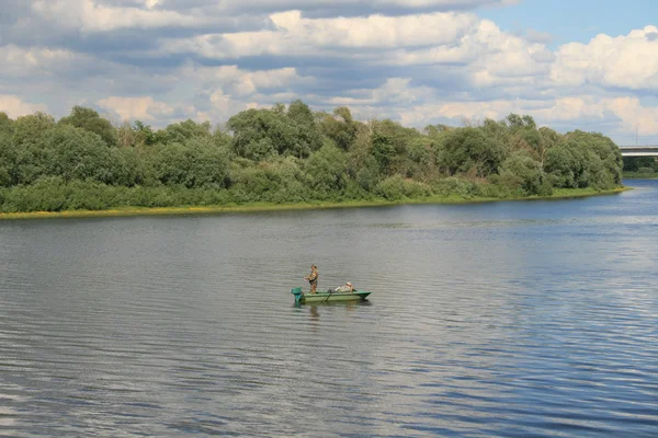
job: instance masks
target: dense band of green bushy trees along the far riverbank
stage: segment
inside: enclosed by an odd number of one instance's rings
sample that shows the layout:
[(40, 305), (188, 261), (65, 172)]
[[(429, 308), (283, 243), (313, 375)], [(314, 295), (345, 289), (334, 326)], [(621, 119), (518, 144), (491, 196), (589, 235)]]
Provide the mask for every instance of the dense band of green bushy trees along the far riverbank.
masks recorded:
[(224, 129), (186, 120), (156, 130), (116, 127), (80, 106), (59, 120), (0, 113), (3, 212), (510, 198), (621, 182), (622, 157), (608, 137), (560, 135), (515, 114), (418, 130), (295, 101), (241, 112)]

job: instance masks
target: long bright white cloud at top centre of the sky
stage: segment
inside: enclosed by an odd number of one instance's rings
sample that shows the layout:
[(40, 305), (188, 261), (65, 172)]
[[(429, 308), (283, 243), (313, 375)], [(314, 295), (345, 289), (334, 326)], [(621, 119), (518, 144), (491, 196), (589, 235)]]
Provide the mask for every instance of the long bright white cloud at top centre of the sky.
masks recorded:
[(208, 34), (163, 42), (164, 51), (195, 53), (214, 59), (260, 55), (309, 55), (339, 49), (443, 46), (457, 41), (478, 20), (473, 14), (305, 19), (299, 11), (271, 15), (274, 31)]

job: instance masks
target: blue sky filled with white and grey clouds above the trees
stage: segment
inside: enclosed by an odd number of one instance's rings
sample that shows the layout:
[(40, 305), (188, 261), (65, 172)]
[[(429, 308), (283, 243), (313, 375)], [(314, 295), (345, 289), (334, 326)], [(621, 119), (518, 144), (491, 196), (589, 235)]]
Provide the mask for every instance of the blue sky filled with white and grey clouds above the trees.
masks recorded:
[(213, 124), (296, 99), (658, 145), (655, 0), (0, 0), (0, 111)]

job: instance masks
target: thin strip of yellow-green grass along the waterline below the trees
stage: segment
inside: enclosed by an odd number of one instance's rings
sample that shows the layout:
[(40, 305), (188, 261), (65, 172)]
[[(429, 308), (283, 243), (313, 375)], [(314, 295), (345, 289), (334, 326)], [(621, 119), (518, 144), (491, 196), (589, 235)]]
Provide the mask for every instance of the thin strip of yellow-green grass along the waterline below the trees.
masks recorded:
[(570, 188), (556, 189), (551, 196), (529, 196), (518, 198), (486, 198), (472, 197), (464, 198), (458, 196), (430, 196), (417, 199), (402, 199), (390, 201), (386, 199), (373, 200), (347, 200), (341, 203), (297, 203), (297, 204), (271, 204), (252, 203), (243, 205), (222, 205), (222, 206), (180, 206), (162, 208), (144, 207), (121, 207), (106, 210), (65, 210), (65, 211), (32, 211), (32, 212), (9, 212), (0, 214), (0, 220), (10, 219), (41, 219), (41, 218), (91, 218), (91, 217), (128, 217), (128, 216), (173, 216), (173, 215), (213, 215), (225, 212), (249, 212), (249, 211), (276, 211), (276, 210), (306, 210), (306, 209), (329, 209), (329, 208), (356, 208), (356, 207), (385, 207), (396, 205), (411, 204), (470, 204), (470, 203), (492, 203), (506, 200), (548, 200), (548, 199), (569, 199), (589, 196), (614, 195), (625, 191), (627, 187), (619, 187), (609, 191), (595, 191), (593, 188)]

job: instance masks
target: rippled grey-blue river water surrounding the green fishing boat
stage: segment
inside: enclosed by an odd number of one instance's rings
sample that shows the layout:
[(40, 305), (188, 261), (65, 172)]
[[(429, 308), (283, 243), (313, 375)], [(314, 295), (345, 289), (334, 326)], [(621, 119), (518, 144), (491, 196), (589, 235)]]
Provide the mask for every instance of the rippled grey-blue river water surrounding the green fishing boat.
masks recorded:
[[(658, 182), (0, 222), (0, 435), (658, 436)], [(364, 303), (293, 306), (320, 289)]]

